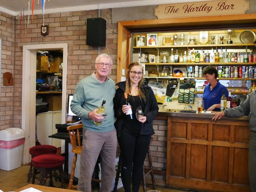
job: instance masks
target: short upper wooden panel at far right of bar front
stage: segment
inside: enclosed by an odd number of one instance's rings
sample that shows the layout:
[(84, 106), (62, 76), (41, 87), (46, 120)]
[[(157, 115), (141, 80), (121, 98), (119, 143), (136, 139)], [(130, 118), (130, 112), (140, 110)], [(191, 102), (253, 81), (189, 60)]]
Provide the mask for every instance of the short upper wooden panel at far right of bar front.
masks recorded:
[(235, 126), (235, 143), (249, 143), (250, 134), (248, 126)]

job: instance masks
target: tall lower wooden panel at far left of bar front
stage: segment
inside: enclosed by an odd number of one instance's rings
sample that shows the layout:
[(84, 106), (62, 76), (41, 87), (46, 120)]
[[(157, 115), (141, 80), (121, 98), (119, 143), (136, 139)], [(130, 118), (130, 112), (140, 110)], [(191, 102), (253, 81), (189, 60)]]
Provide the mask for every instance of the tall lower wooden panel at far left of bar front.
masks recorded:
[(185, 177), (186, 144), (171, 143), (171, 154), (170, 155), (171, 155), (170, 174), (172, 176)]

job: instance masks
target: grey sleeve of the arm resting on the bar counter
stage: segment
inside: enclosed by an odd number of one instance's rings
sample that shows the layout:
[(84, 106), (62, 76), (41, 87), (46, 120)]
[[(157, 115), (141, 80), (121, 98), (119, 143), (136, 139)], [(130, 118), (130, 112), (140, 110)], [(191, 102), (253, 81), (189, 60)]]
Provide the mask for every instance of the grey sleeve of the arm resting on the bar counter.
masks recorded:
[(234, 108), (224, 109), (224, 114), (227, 117), (241, 117), (249, 114), (250, 112), (250, 95), (244, 102), (241, 102), (239, 106)]

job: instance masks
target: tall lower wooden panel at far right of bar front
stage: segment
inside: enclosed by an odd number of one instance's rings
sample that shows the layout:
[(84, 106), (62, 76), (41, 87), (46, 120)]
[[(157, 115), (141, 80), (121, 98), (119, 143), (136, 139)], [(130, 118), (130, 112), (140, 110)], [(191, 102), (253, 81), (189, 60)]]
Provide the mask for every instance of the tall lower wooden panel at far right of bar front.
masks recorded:
[(248, 151), (248, 149), (235, 148), (233, 183), (249, 185)]

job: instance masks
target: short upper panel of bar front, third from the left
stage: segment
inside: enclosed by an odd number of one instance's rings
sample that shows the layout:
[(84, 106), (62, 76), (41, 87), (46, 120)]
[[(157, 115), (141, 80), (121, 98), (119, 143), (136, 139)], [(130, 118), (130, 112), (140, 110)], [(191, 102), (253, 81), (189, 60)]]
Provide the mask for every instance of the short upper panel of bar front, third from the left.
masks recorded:
[(212, 125), (212, 140), (230, 142), (230, 125), (213, 124)]

